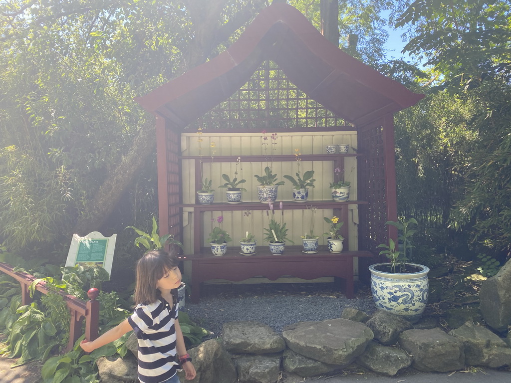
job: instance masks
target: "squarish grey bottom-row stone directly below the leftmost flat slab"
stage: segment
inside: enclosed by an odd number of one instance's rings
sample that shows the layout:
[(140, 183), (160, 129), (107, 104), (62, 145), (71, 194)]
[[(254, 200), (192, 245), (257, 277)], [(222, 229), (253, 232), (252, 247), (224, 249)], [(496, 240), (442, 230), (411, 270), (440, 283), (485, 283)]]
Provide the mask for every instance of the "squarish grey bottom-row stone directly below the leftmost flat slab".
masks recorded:
[[(237, 361), (240, 382), (275, 383), (278, 380), (281, 370), (280, 356), (247, 355), (239, 357)], [(214, 383), (214, 381), (211, 383)]]

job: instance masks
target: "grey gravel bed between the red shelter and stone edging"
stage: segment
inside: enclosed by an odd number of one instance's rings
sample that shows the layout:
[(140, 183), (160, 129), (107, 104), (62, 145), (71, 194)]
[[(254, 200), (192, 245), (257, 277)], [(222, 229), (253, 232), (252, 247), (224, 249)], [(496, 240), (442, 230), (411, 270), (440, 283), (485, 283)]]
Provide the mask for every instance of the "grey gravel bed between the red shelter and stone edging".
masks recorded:
[(230, 321), (254, 320), (277, 332), (289, 324), (339, 318), (345, 307), (372, 314), (375, 304), (367, 291), (347, 299), (333, 283), (206, 285), (199, 303), (187, 297), (185, 311), (192, 321), (220, 336)]

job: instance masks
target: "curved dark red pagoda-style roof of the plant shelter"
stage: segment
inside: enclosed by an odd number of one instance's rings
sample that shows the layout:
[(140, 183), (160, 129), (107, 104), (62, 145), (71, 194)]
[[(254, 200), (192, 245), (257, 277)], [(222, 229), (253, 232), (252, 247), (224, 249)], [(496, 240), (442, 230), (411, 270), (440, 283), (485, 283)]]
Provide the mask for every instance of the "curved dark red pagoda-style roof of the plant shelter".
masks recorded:
[(184, 128), (229, 98), (266, 59), (309, 97), (355, 125), (424, 97), (340, 50), (294, 7), (274, 4), (225, 52), (135, 101)]

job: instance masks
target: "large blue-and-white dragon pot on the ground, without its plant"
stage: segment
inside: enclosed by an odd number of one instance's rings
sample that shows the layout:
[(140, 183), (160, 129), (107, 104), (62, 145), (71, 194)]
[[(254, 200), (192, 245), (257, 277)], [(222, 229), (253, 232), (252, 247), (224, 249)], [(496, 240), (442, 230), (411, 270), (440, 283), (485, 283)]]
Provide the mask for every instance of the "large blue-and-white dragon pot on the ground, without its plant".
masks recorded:
[(400, 315), (414, 323), (426, 308), (429, 295), (429, 268), (424, 265), (406, 264), (410, 273), (391, 273), (384, 268), (389, 263), (369, 266), (371, 272), (371, 293), (376, 307)]

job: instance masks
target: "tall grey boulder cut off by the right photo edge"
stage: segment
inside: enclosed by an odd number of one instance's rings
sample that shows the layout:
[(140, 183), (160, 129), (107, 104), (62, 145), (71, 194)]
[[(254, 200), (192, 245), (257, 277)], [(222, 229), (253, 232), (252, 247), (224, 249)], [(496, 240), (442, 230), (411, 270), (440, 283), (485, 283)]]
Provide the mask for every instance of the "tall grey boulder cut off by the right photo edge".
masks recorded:
[(479, 308), (486, 324), (503, 332), (511, 325), (511, 260), (481, 284)]

